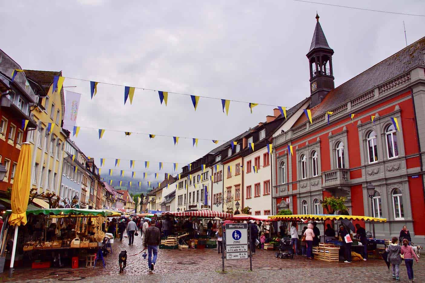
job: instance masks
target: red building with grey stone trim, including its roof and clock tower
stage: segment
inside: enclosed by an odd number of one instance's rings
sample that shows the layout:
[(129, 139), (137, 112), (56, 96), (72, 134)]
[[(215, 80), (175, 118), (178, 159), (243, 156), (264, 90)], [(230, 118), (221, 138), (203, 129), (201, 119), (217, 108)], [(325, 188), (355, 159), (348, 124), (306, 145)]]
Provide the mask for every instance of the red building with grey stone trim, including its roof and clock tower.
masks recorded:
[(326, 213), (324, 197), (345, 196), (351, 215), (387, 219), (375, 225), (378, 238), (407, 225), (412, 241), (424, 243), (424, 50), (422, 38), (334, 88), (333, 50), (317, 17), (307, 54), (312, 119), (299, 112), (274, 135), (272, 213)]

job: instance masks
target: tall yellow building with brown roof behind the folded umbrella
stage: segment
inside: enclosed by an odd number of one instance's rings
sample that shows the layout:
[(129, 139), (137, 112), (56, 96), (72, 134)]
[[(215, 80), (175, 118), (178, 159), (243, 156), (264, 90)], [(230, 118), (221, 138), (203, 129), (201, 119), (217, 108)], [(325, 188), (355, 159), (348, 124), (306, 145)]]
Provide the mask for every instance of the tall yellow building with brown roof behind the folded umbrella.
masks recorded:
[[(25, 74), (29, 80), (42, 86), (42, 89), (34, 87), (40, 100), (31, 111), (37, 129), (27, 136), (27, 141), (34, 144), (32, 188), (37, 188), (39, 193), (59, 194), (64, 142), (68, 132), (62, 129), (65, 111), (63, 89), (52, 92), (52, 84), (54, 76), (62, 76), (62, 72), (26, 70)], [(51, 131), (48, 130), (48, 123), (51, 123)]]

